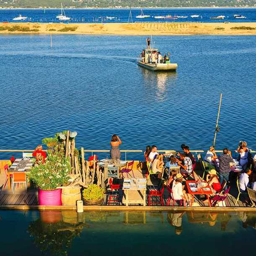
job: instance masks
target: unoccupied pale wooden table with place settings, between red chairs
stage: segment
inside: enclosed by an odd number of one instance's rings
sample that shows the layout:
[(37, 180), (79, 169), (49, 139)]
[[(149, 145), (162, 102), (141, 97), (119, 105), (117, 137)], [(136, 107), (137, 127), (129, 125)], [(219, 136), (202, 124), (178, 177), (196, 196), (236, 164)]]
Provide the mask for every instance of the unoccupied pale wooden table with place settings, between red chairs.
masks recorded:
[[(130, 184), (130, 187), (128, 184)], [(126, 206), (128, 204), (143, 204), (143, 206), (146, 206), (146, 179), (125, 178), (123, 192), (123, 204)]]

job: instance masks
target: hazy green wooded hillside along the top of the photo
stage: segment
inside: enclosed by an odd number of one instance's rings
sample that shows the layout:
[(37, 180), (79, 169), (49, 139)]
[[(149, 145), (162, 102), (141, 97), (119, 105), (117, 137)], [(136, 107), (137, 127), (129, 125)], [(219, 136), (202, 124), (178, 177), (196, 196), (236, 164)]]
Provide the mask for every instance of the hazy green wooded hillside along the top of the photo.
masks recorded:
[(256, 7), (256, 0), (0, 0), (0, 7)]

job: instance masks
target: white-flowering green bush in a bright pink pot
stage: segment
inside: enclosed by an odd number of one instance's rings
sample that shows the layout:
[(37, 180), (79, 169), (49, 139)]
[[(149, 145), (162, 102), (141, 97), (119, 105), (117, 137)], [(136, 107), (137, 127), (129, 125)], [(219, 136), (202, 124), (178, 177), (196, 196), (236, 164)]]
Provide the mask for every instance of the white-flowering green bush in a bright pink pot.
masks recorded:
[(29, 179), (38, 187), (39, 205), (62, 205), (60, 188), (68, 183), (71, 165), (61, 152), (50, 151), (45, 163), (39, 162), (28, 172)]

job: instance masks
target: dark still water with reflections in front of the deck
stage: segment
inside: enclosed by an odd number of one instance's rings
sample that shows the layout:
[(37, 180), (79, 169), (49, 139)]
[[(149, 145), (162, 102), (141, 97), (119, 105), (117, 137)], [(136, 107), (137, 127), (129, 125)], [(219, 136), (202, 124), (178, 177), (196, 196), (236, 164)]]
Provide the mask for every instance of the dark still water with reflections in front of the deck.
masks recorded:
[[(254, 255), (255, 213), (0, 211), (10, 256)], [(14, 246), (15, 245), (15, 246)]]

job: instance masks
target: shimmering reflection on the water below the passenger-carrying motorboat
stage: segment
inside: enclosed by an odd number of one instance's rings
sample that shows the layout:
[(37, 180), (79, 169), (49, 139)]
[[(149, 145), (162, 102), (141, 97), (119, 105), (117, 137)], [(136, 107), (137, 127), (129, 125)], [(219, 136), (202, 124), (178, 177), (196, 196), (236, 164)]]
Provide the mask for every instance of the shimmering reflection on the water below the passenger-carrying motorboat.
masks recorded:
[(177, 72), (154, 72), (146, 68), (141, 68), (141, 73), (144, 78), (147, 89), (153, 90), (153, 99), (157, 101), (165, 101), (167, 97), (168, 87), (176, 85)]

